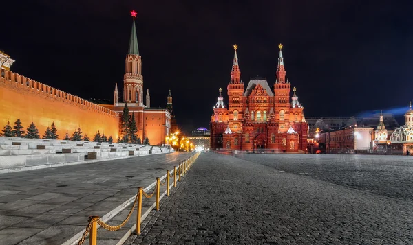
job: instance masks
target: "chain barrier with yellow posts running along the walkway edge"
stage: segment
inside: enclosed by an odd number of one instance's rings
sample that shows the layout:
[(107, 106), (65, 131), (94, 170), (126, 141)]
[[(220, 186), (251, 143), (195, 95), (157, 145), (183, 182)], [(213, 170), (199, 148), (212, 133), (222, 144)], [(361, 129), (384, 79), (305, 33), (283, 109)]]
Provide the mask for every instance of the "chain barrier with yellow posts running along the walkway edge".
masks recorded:
[[(181, 177), (184, 175), (186, 176), (188, 170), (191, 168), (193, 163), (195, 162), (196, 159), (198, 159), (198, 156), (200, 155), (200, 152), (197, 152), (193, 156), (190, 156), (188, 159), (180, 163), (178, 165), (178, 169), (176, 166), (173, 167), (173, 171), (167, 170), (167, 174), (165, 176), (165, 179), (163, 180), (163, 183), (160, 182), (160, 178), (156, 178), (156, 187), (153, 189), (152, 194), (148, 195), (144, 190), (143, 187), (138, 187), (138, 194), (136, 194), (134, 204), (132, 205), (131, 210), (129, 211), (127, 218), (123, 220), (123, 222), (117, 226), (111, 226), (103, 220), (100, 220), (99, 216), (90, 216), (88, 219), (89, 224), (87, 224), (85, 232), (83, 233), (81, 239), (78, 241), (78, 245), (83, 244), (85, 242), (87, 235), (89, 235), (89, 244), (90, 245), (96, 245), (97, 242), (97, 235), (98, 235), (98, 225), (103, 227), (103, 229), (106, 229), (108, 231), (118, 231), (121, 229), (129, 219), (131, 218), (132, 213), (134, 213), (134, 209), (136, 207), (136, 204), (138, 204), (137, 209), (137, 214), (136, 214), (136, 234), (140, 235), (140, 223), (141, 223), (141, 218), (142, 218), (142, 197), (145, 196), (145, 198), (152, 198), (153, 195), (156, 194), (156, 211), (159, 210), (160, 207), (160, 187), (163, 185), (167, 185), (167, 196), (169, 196), (169, 185), (170, 185), (170, 177), (173, 177), (173, 187), (176, 187), (176, 182), (177, 180), (180, 182)], [(178, 176), (177, 176), (178, 175)], [(178, 177), (178, 178), (177, 178)]]

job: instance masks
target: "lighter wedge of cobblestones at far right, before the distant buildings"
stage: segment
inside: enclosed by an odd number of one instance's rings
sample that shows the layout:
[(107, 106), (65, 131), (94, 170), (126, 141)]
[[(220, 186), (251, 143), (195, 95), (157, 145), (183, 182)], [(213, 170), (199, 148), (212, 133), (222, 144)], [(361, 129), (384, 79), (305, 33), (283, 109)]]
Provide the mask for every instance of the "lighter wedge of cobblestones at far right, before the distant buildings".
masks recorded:
[(247, 161), (375, 194), (413, 200), (412, 156), (237, 154)]

